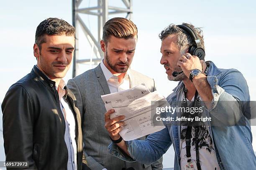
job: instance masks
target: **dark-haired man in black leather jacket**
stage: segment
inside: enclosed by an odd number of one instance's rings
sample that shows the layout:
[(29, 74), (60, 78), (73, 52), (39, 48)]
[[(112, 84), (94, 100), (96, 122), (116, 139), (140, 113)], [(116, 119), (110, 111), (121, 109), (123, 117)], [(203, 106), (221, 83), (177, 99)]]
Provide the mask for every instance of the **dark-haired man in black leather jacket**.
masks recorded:
[[(36, 29), (32, 71), (5, 95), (3, 137), (6, 161), (27, 161), (20, 169), (81, 170), (81, 117), (73, 93), (64, 85), (74, 52), (75, 29), (48, 18)], [(18, 166), (17, 166), (18, 167)]]

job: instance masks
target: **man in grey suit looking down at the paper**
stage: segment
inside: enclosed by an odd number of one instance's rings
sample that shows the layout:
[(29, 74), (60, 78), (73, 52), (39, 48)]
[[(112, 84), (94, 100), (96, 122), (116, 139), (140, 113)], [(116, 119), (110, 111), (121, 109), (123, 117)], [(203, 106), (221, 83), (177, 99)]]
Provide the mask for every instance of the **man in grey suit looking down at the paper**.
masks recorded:
[[(100, 46), (104, 60), (92, 70), (69, 80), (82, 116), (84, 151), (92, 170), (161, 170), (162, 158), (151, 165), (128, 163), (108, 153), (111, 139), (105, 130), (105, 105), (101, 95), (127, 90), (144, 83), (153, 92), (154, 80), (130, 69), (137, 42), (137, 27), (125, 18), (108, 20)], [(146, 137), (140, 138), (144, 140)]]

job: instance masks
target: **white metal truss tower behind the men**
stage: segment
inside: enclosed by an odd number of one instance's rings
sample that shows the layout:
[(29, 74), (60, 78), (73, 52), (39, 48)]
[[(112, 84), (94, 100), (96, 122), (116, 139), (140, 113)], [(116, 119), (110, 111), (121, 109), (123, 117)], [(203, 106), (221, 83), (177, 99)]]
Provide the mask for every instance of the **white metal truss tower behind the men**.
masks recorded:
[[(73, 59), (73, 72), (72, 77), (77, 75), (77, 68), (79, 64), (89, 64), (89, 65), (97, 65), (103, 56), (103, 52), (100, 49), (100, 40), (102, 38), (102, 29), (103, 25), (105, 24), (109, 17), (112, 14), (121, 14), (126, 13), (126, 18), (131, 20), (132, 17), (132, 0), (118, 0), (121, 1), (124, 7), (115, 7), (109, 5), (109, 0), (93, 0), (97, 2), (97, 6), (94, 7), (82, 7), (82, 2), (86, 0), (72, 0), (72, 20), (73, 25), (76, 28), (76, 44), (74, 50), (74, 59)], [(97, 17), (97, 36), (94, 36), (90, 27), (85, 24), (84, 20), (82, 19), (81, 15), (84, 16), (96, 16)], [(91, 56), (84, 56), (79, 52), (79, 34), (78, 28), (81, 28), (82, 32), (84, 33), (87, 41), (91, 46)], [(95, 29), (93, 30), (95, 31)], [(83, 47), (84, 48), (84, 47)], [(94, 57), (92, 57), (94, 56)]]

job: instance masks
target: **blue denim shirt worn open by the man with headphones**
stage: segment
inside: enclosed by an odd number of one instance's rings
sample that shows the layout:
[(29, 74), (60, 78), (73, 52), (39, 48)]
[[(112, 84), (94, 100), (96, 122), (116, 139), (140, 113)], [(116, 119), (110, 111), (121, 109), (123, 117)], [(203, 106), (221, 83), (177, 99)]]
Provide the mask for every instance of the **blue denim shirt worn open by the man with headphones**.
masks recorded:
[[(245, 78), (235, 69), (219, 69), (210, 62), (207, 81), (212, 88), (211, 108), (205, 110), (207, 117), (215, 118), (215, 121), (223, 123), (223, 126), (212, 126), (211, 122), (205, 122), (213, 139), (215, 154), (221, 170), (256, 170), (256, 157), (252, 148), (252, 134), (250, 120), (241, 114), (241, 105), (236, 101), (250, 101), (250, 95)], [(174, 92), (166, 99), (171, 107), (181, 99), (183, 82), (179, 82)], [(227, 102), (237, 103), (228, 105)], [(170, 115), (177, 117), (177, 113)], [(243, 125), (238, 126), (243, 117)], [(173, 144), (175, 151), (174, 170), (180, 170), (179, 166), (179, 142), (180, 126), (172, 125), (172, 122), (164, 122), (166, 128), (153, 133), (146, 140), (126, 141), (131, 157), (125, 155), (114, 143), (110, 143), (109, 152), (128, 162), (138, 161), (150, 164), (158, 160)]]

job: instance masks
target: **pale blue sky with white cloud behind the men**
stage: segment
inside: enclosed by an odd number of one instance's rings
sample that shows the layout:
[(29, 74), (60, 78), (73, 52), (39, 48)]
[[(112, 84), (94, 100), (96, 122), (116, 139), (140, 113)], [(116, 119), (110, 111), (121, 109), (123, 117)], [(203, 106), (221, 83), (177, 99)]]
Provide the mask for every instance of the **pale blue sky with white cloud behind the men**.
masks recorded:
[[(119, 5), (120, 1), (109, 0), (112, 6)], [(95, 2), (84, 0), (81, 6), (94, 6)], [(49, 17), (62, 18), (72, 23), (71, 5), (71, 0), (1, 2), (0, 102), (10, 85), (30, 72), (36, 64), (33, 43), (37, 25)], [(132, 68), (153, 77), (159, 91), (164, 96), (169, 95), (176, 83), (167, 80), (164, 67), (160, 65), (161, 41), (158, 34), (170, 23), (192, 23), (203, 30), (206, 60), (212, 60), (220, 68), (236, 68), (241, 71), (247, 80), (251, 100), (256, 100), (255, 6), (255, 0), (133, 0), (133, 22), (138, 27), (138, 43)], [(94, 28), (95, 18), (84, 18)], [(80, 45), (80, 48), (85, 54), (90, 54), (90, 47)], [(80, 73), (89, 69), (86, 65), (79, 68)], [(65, 80), (69, 78), (71, 70)], [(256, 128), (252, 127), (252, 131), (256, 138)], [(3, 153), (1, 145), (0, 140), (0, 153)], [(254, 140), (253, 145), (256, 148)], [(169, 160), (167, 156), (164, 159)], [(165, 165), (169, 164), (166, 162)]]

